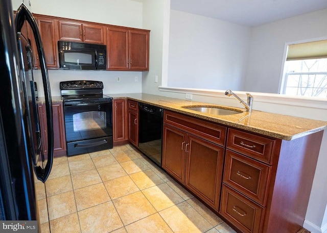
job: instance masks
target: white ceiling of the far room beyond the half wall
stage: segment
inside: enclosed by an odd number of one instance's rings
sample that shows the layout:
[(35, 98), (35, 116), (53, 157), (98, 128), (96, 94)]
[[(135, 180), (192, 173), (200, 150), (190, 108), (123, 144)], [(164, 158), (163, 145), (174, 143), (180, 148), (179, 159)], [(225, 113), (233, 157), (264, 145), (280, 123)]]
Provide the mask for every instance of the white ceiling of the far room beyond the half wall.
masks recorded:
[[(134, 0), (143, 2), (143, 0)], [(255, 27), (327, 8), (326, 0), (171, 0), (170, 8)]]

